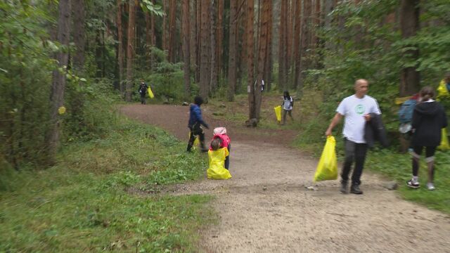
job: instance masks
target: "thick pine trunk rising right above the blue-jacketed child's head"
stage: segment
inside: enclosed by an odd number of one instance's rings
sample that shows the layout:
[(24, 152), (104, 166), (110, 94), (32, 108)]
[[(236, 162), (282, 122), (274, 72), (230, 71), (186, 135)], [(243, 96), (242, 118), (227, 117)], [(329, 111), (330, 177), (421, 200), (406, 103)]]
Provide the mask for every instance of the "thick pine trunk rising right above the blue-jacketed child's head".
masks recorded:
[(201, 6), (201, 13), (202, 13), (202, 23), (201, 23), (201, 52), (200, 52), (200, 96), (203, 97), (203, 99), (207, 99), (208, 97), (208, 93), (210, 91), (209, 89), (209, 83), (210, 83), (210, 78), (208, 78), (210, 76), (209, 69), (210, 66), (208, 64), (209, 62), (209, 57), (208, 57), (208, 47), (209, 47), (209, 43), (207, 41), (208, 36), (207, 34), (209, 34), (209, 30), (208, 30), (208, 19), (207, 19), (207, 15), (208, 15), (208, 5), (204, 2), (202, 3)]

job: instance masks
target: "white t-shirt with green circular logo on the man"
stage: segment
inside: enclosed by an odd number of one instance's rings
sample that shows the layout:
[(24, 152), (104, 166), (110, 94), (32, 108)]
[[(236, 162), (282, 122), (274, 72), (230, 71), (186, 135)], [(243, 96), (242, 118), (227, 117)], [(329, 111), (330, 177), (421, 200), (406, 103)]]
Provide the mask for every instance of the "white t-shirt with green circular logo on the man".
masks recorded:
[(345, 116), (342, 134), (354, 143), (366, 143), (366, 140), (364, 140), (364, 128), (366, 127), (364, 115), (369, 113), (381, 114), (377, 100), (367, 95), (364, 98), (357, 98), (356, 95), (344, 98), (336, 112)]

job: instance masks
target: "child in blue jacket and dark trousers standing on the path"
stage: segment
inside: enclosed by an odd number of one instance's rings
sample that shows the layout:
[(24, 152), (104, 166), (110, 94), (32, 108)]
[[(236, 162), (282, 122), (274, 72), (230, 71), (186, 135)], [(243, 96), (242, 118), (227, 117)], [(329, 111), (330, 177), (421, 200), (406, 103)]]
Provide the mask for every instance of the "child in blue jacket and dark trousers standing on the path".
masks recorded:
[(202, 148), (202, 152), (208, 152), (208, 150), (205, 148), (205, 134), (203, 133), (201, 125), (205, 126), (206, 129), (210, 129), (210, 126), (208, 126), (208, 124), (203, 121), (202, 110), (200, 109), (200, 105), (202, 104), (203, 98), (200, 96), (196, 96), (194, 98), (194, 103), (191, 104), (188, 122), (188, 128), (191, 131), (191, 136), (189, 137), (188, 142), (188, 152), (191, 152), (191, 148), (195, 141), (195, 136), (199, 136), (200, 138), (200, 146)]

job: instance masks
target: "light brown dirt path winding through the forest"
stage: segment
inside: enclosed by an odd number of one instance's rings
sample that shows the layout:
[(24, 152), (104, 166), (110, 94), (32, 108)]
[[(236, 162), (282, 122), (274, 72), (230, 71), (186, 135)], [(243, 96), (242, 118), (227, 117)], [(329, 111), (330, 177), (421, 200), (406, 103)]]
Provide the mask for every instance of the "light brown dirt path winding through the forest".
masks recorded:
[[(129, 105), (121, 111), (186, 139), (186, 107)], [(450, 252), (450, 217), (401, 200), (377, 176), (363, 175), (364, 195), (340, 194), (338, 181), (308, 190), (317, 161), (277, 144), (288, 143), (294, 133), (281, 131), (275, 138), (208, 122), (234, 134), (233, 179), (173, 189), (217, 195), (213, 205), (220, 221), (204, 231), (204, 252)]]

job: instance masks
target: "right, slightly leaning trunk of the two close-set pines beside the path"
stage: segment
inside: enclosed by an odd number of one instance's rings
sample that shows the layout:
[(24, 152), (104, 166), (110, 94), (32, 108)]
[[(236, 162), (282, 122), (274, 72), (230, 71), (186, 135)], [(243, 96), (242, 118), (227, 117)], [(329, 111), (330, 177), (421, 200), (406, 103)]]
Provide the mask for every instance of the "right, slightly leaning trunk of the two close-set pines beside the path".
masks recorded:
[(262, 103), (262, 77), (264, 77), (266, 55), (267, 55), (267, 31), (269, 30), (269, 11), (271, 1), (262, 1), (262, 19), (260, 24), (261, 38), (259, 39), (258, 50), (258, 69), (257, 69), (257, 85), (255, 87), (255, 104), (256, 104), (256, 118), (259, 121)]

